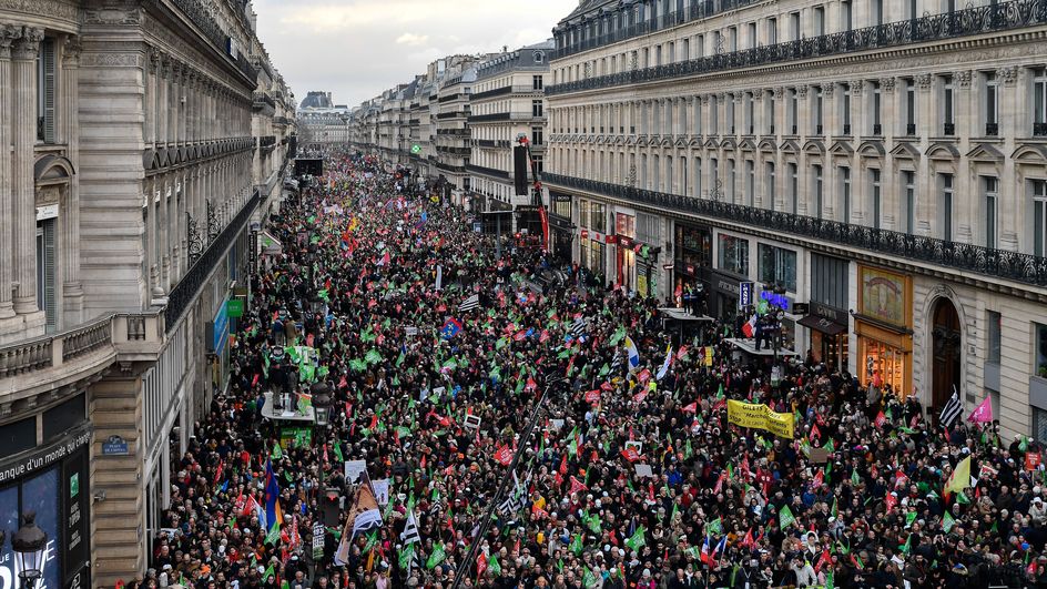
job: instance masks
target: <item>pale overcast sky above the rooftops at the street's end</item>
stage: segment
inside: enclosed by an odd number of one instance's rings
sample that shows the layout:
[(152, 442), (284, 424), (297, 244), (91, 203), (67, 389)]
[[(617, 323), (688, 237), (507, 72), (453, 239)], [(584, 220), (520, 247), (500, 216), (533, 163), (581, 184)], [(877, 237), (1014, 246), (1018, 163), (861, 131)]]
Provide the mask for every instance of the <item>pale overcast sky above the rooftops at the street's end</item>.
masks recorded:
[(576, 0), (254, 0), (258, 38), (302, 101), (354, 106), (444, 55), (543, 41)]

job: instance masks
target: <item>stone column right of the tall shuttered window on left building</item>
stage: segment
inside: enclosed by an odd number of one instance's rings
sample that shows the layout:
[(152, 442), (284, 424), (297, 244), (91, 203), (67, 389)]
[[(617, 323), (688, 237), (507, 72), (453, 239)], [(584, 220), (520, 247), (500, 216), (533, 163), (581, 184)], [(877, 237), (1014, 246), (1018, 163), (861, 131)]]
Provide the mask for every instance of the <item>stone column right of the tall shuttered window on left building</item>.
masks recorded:
[[(80, 38), (68, 35), (62, 45), (62, 72), (59, 85), (62, 124), (58, 125), (65, 143), (65, 156), (80, 164)], [(69, 179), (62, 226), (62, 325), (83, 321), (83, 286), (80, 282), (80, 174)]]

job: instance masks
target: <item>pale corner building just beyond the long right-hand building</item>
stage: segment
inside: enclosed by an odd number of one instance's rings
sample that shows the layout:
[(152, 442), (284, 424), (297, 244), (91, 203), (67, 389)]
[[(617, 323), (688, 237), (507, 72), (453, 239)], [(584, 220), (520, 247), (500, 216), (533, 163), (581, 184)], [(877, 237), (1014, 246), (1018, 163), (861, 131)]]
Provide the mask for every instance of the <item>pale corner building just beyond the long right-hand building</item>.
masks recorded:
[[(467, 170), (472, 192), (486, 199), (485, 211), (530, 206), (515, 186), (514, 146), (527, 138), (538, 170), (546, 151), (545, 82), (552, 41), (507, 51), (477, 67), (469, 98), (471, 153)], [(530, 170), (528, 170), (530, 174)], [(533, 180), (528, 176), (529, 180)]]

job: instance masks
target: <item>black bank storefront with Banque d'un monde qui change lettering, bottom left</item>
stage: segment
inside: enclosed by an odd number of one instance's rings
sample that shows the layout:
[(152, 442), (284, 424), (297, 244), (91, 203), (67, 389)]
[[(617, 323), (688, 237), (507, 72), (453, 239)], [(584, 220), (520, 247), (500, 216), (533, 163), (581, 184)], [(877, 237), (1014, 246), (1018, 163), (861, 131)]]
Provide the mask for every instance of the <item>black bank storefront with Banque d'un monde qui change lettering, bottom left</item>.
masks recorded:
[[(79, 400), (77, 400), (79, 399)], [(8, 540), (0, 546), (0, 587), (14, 587), (14, 552), (11, 537), (24, 522), (21, 516), (35, 514), (35, 525), (47, 534), (41, 568), (41, 589), (91, 587), (90, 524), (91, 489), (89, 454), (91, 424), (84, 420), (83, 395), (73, 399), (77, 410), (61, 417), (49, 416), (67, 404), (44, 413), (44, 436), (54, 425), (74, 419), (77, 425), (55, 433), (45, 444), (0, 461), (0, 530)], [(35, 417), (31, 417), (35, 422)]]

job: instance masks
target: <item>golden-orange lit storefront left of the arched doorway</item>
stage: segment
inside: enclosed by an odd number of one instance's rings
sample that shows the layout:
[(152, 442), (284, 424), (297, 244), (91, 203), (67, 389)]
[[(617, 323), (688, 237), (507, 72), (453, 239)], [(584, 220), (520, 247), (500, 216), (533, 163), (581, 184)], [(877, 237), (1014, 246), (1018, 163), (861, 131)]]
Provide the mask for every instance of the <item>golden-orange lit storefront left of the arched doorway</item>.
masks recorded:
[(883, 268), (858, 266), (858, 378), (882, 382), (907, 395), (913, 382), (913, 280)]

